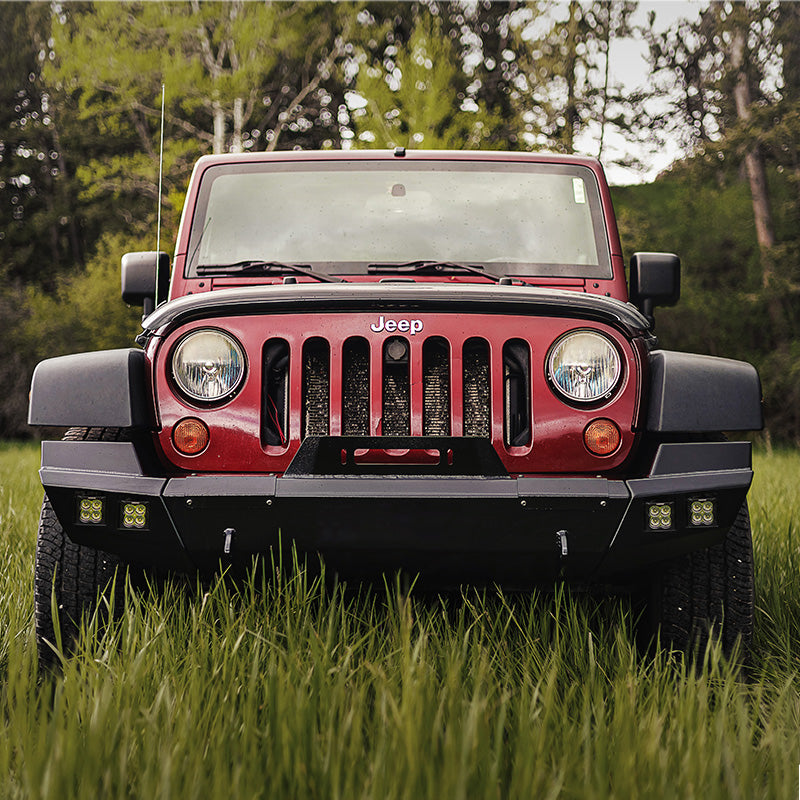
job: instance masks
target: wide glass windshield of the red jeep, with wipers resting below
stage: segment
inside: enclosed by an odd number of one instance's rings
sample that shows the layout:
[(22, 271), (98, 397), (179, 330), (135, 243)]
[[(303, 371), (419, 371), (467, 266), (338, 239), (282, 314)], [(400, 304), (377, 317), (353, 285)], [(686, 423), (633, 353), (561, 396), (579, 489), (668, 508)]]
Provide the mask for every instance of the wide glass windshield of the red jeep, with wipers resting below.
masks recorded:
[[(591, 170), (460, 161), (245, 163), (203, 177), (189, 275), (248, 260), (359, 274), (416, 261), (611, 277)], [(206, 266), (206, 269), (202, 269)]]

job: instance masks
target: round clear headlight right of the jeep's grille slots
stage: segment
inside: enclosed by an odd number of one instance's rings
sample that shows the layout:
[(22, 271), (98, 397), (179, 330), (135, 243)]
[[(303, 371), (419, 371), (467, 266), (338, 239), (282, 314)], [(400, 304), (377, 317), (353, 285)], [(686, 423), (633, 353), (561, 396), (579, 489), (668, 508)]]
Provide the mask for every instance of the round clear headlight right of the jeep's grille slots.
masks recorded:
[(617, 348), (593, 331), (574, 331), (550, 350), (547, 372), (556, 390), (567, 400), (593, 403), (619, 383), (622, 374)]

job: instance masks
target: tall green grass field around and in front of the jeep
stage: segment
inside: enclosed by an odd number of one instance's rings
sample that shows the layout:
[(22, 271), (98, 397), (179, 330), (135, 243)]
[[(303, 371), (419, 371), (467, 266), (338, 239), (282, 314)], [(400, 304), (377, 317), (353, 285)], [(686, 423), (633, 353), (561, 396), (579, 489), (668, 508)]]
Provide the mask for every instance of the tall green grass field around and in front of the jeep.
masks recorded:
[(753, 666), (637, 652), (623, 600), (134, 596), (37, 682), (38, 454), (0, 446), (2, 798), (789, 798), (800, 762), (800, 454), (759, 453)]

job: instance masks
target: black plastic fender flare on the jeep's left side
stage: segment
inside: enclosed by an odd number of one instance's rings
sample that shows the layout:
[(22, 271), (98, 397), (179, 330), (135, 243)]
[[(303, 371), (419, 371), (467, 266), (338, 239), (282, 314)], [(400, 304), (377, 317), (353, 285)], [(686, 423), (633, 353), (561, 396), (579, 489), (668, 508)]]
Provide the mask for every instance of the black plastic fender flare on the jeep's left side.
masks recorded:
[(29, 425), (151, 428), (154, 421), (143, 350), (48, 358), (33, 372)]

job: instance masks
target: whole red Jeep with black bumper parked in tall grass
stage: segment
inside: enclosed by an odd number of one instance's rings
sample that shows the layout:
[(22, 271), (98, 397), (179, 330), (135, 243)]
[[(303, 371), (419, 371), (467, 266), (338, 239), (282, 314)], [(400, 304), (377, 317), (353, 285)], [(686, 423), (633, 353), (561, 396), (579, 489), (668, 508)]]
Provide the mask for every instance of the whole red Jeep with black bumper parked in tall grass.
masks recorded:
[[(354, 579), (649, 592), (678, 646), (753, 621), (749, 364), (658, 347), (676, 256), (626, 285), (600, 164), (527, 153), (201, 158), (140, 348), (42, 362), (36, 634), (122, 563), (293, 543)], [(630, 301), (629, 301), (630, 297)], [(54, 620), (51, 595), (62, 609)]]

